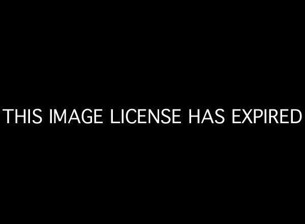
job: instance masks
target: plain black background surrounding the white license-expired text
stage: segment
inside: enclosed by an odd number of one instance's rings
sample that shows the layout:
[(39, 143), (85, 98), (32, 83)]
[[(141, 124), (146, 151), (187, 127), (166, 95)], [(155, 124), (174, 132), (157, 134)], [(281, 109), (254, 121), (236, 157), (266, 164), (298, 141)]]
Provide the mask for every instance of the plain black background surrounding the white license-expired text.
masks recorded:
[[(230, 115), (303, 112), (295, 9), (49, 7), (4, 15), (1, 108), (182, 108), (184, 124), (2, 123), (7, 211), (157, 220), (298, 212), (303, 121), (232, 125)], [(224, 108), (226, 123), (190, 126), (189, 108)]]

